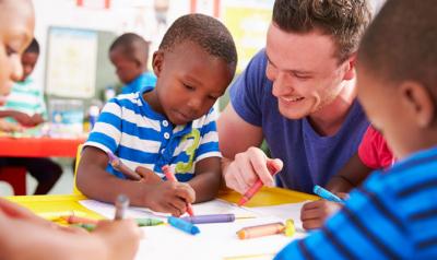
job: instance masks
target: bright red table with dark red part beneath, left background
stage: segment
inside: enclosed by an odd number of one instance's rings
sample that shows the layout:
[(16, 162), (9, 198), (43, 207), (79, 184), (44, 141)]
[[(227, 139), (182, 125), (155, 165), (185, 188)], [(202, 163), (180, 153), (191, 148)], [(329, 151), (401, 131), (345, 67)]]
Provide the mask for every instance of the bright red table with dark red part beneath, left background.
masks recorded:
[[(0, 138), (0, 156), (13, 157), (72, 157), (85, 139)], [(26, 169), (0, 168), (0, 180), (9, 182), (15, 196), (26, 194)]]

